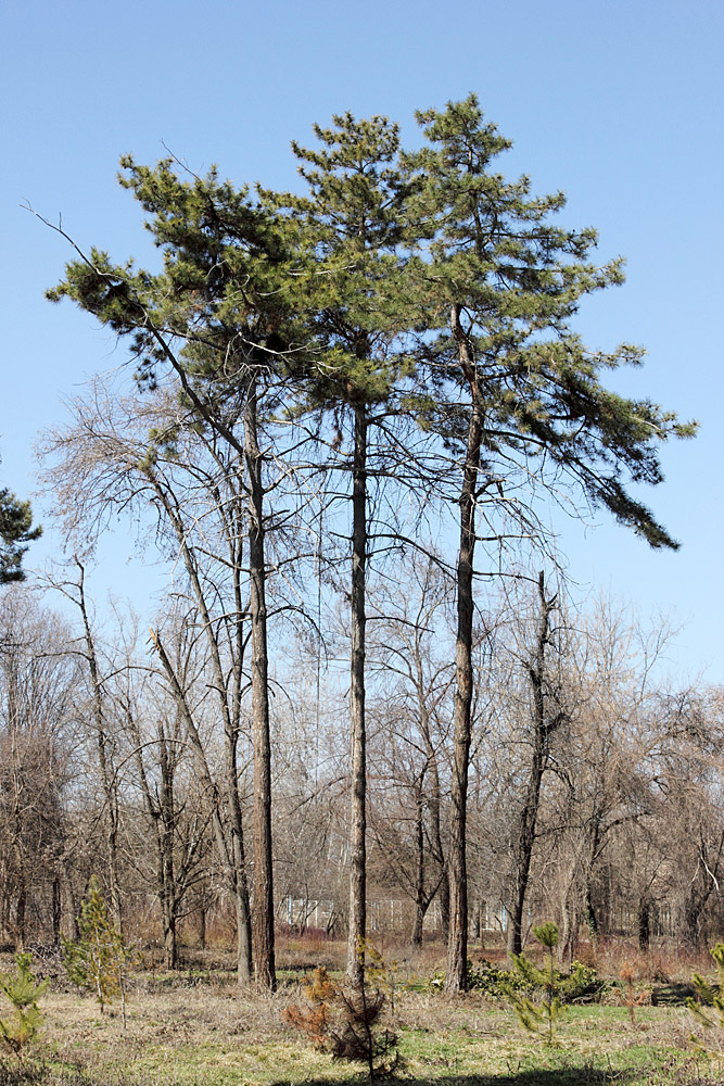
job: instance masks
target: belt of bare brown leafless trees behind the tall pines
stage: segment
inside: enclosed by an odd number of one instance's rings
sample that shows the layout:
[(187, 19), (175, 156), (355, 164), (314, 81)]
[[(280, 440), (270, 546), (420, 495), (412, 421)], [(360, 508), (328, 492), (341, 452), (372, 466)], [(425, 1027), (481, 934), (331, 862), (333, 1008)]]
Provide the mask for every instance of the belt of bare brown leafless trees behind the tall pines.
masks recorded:
[[(214, 918), (231, 938), (253, 914), (252, 735), (242, 709), (230, 791), (214, 664), (185, 593), (150, 641), (120, 609), (96, 628), (82, 574), (76, 565), (59, 582), (77, 621), (25, 586), (0, 598), (0, 922), (16, 947), (72, 936), (97, 874), (127, 936), (163, 942), (174, 968)], [(432, 563), (407, 561), (394, 582), (370, 596), (369, 927), (419, 943), (448, 924), (450, 601)], [(625, 932), (644, 949), (711, 940), (724, 921), (721, 691), (657, 685), (660, 629), (606, 603), (573, 620), (547, 591), (497, 598), (477, 633), (471, 935), (506, 929), (515, 949), (549, 917), (564, 955), (589, 933)], [(274, 679), (275, 912), (278, 930), (339, 934), (346, 691), (331, 644), (323, 661), (318, 647), (290, 639)], [(541, 683), (556, 706), (543, 720)]]

